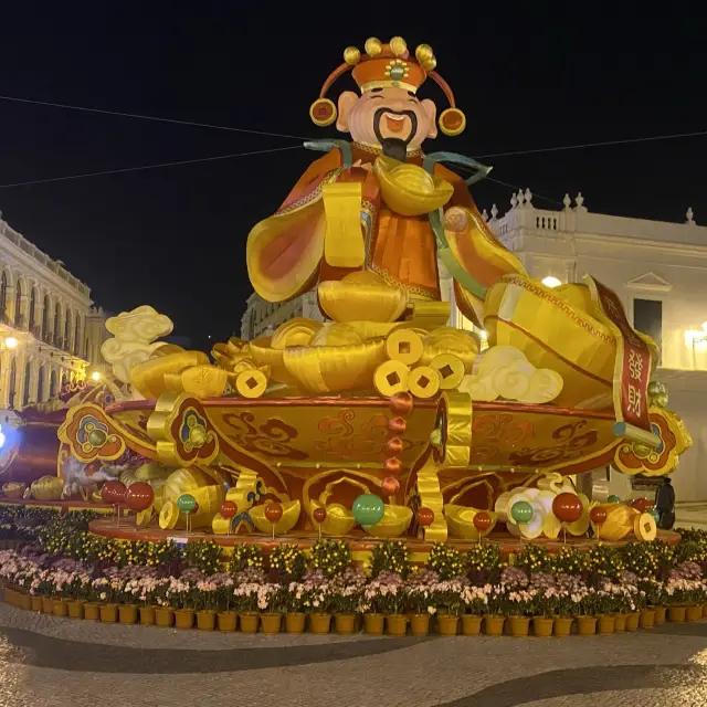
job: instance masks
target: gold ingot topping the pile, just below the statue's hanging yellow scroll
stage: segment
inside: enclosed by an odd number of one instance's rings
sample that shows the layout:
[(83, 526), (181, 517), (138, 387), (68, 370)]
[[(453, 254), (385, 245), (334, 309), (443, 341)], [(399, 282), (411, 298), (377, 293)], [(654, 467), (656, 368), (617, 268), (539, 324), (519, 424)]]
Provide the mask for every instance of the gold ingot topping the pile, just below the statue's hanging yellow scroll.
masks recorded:
[(408, 306), (408, 295), (370, 271), (319, 283), (319, 306), (334, 321), (395, 321)]

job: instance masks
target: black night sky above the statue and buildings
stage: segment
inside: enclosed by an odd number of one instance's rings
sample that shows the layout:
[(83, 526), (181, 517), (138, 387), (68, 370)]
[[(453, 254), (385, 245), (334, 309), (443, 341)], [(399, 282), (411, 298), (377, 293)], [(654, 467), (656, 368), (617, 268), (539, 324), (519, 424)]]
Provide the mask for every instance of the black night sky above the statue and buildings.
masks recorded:
[[(83, 11), (52, 3), (32, 8), (31, 18), (6, 14), (0, 94), (321, 138), (336, 130), (315, 127), (308, 108), (344, 49), (401, 34), (413, 50), (432, 45), (468, 120), (461, 137), (428, 143), (428, 151), (481, 157), (707, 130), (704, 23), (694, 13), (671, 19), (669, 6), (622, 15), (590, 12), (599, 6), (588, 3), (545, 3), (549, 11), (398, 2), (381, 11), (349, 2), (288, 14), (274, 3), (244, 4), (133, 14), (110, 2)], [(435, 15), (435, 7), (446, 11)], [(420, 95), (441, 104), (431, 83)], [(296, 144), (0, 101), (0, 186)], [(295, 149), (6, 188), (0, 209), (86, 282), (97, 304), (116, 313), (151, 304), (175, 320), (175, 334), (205, 347), (208, 335), (240, 330), (250, 228), (316, 157)], [(529, 187), (538, 207), (558, 208), (564, 192), (581, 190), (590, 211), (682, 222), (692, 205), (707, 223), (706, 158), (703, 136), (486, 161), (495, 179)], [(473, 193), (479, 208), (496, 202), (502, 212), (511, 196), (494, 182)]]

